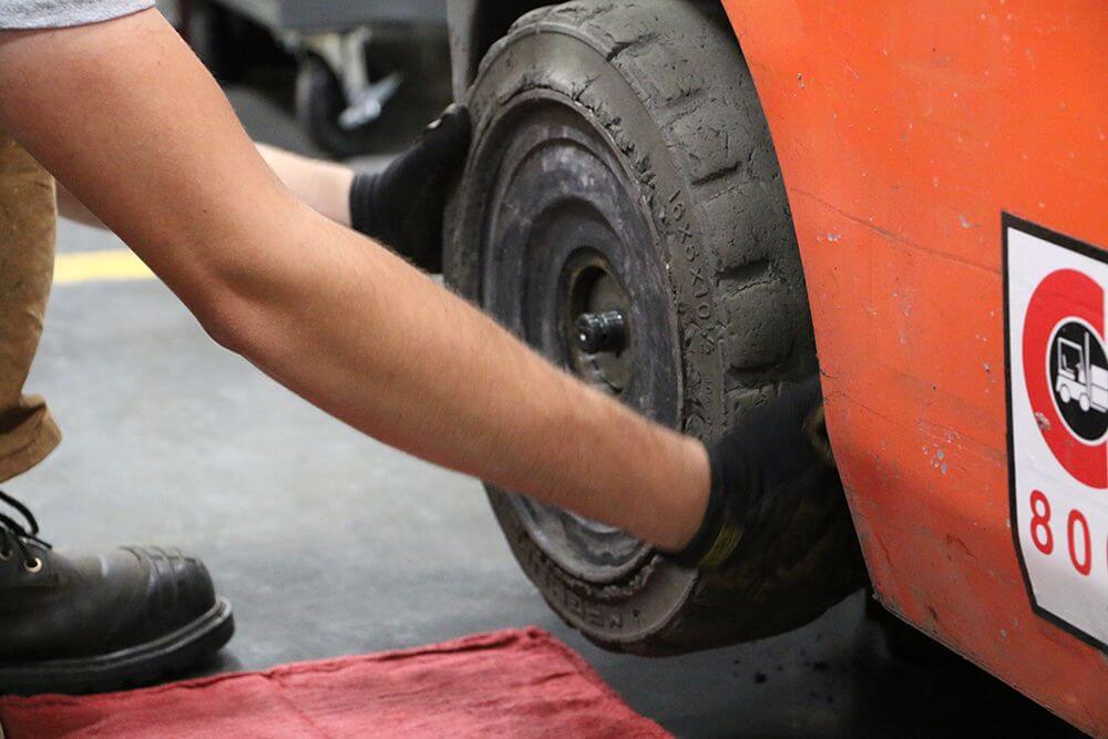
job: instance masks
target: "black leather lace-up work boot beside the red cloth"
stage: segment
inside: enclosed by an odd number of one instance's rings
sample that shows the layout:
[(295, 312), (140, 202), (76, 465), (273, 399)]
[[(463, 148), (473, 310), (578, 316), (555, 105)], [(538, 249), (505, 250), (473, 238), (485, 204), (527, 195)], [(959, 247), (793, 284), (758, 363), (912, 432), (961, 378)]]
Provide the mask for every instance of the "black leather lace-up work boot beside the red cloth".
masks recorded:
[(0, 694), (99, 692), (155, 681), (219, 649), (235, 630), (199, 560), (125, 546), (63, 556), (0, 511)]

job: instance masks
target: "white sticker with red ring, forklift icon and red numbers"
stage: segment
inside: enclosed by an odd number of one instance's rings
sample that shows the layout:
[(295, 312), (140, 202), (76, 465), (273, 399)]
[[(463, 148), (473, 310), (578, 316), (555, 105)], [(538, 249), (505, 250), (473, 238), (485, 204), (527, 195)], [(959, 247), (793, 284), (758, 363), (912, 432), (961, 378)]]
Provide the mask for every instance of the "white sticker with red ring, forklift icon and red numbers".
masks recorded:
[(1016, 550), (1036, 613), (1108, 650), (1108, 254), (1003, 227)]

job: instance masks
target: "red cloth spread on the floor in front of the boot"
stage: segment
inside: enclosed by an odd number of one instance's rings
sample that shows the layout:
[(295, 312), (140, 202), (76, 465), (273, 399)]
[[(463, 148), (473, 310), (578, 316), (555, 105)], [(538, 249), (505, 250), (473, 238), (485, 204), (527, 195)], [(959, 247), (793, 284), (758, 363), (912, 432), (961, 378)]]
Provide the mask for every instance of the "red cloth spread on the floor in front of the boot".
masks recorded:
[(99, 696), (0, 698), (8, 739), (667, 737), (537, 628)]

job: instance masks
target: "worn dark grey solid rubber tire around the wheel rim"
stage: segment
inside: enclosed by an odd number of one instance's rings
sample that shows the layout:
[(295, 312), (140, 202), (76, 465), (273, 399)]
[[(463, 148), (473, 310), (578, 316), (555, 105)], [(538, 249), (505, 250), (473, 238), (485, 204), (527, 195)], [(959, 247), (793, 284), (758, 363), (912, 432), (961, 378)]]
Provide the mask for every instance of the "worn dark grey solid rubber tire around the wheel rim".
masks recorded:
[[(482, 302), (482, 204), (505, 147), (499, 116), (562, 101), (611, 143), (648, 211), (681, 347), (680, 428), (706, 441), (815, 371), (803, 273), (753, 82), (717, 3), (568, 2), (522, 17), (468, 95), (474, 143), (448, 209), (448, 283)], [(522, 104), (522, 103), (520, 103)], [(496, 141), (490, 132), (496, 132)], [(510, 132), (507, 134), (510, 137)], [(865, 582), (840, 487), (809, 491), (735, 566), (697, 573), (655, 553), (618, 582), (560, 567), (510, 493), (490, 499), (527, 576), (568, 624), (614, 650), (665, 655), (800, 626)]]

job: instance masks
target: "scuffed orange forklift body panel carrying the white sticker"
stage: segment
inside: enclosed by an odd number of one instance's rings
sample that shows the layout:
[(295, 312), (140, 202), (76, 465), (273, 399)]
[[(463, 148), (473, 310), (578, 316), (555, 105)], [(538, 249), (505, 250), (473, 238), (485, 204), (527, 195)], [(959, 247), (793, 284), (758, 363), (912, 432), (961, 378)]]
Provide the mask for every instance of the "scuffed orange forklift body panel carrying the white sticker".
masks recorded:
[[(1035, 399), (1036, 382), (1047, 396), (1064, 384), (1044, 377), (1076, 377), (1067, 362), (1083, 363), (1086, 386), (1098, 370), (1077, 349), (1074, 360), (1033, 346), (1034, 306), (1057, 278), (1035, 288), (1042, 267), (1077, 275), (1047, 300), (1044, 326), (1069, 320), (1102, 347), (1108, 7), (724, 4), (780, 160), (828, 425), (878, 597), (1108, 736), (1105, 438), (1065, 438), (1080, 414), (1073, 382), (1073, 403), (1055, 393), (1039, 412)], [(1096, 402), (1081, 400), (1092, 423)], [(1019, 448), (1039, 433), (1050, 453)], [(1039, 474), (1047, 484), (1028, 487)]]

